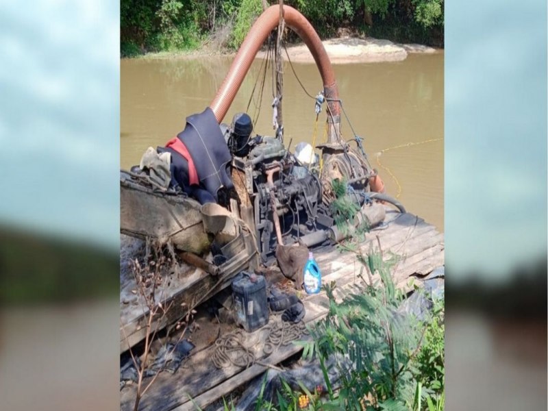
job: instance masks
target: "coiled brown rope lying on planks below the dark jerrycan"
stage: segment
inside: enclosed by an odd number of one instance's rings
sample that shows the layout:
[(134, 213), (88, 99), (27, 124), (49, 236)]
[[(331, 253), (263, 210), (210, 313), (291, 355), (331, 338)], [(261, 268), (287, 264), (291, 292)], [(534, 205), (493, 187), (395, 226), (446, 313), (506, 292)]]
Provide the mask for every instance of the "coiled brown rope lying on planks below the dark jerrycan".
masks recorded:
[[(301, 335), (308, 334), (306, 325), (299, 321), (299, 323), (288, 323), (286, 321), (271, 321), (266, 327), (260, 329), (261, 334), (267, 333), (264, 340), (263, 353), (266, 356), (270, 356), (271, 353), (283, 347), (297, 341), (301, 338)], [(249, 342), (249, 333), (244, 332), (242, 329), (236, 329), (215, 341), (215, 351), (211, 357), (211, 360), (218, 369), (226, 368), (227, 366), (237, 366), (240, 368), (247, 368), (257, 362), (253, 353), (253, 342)]]

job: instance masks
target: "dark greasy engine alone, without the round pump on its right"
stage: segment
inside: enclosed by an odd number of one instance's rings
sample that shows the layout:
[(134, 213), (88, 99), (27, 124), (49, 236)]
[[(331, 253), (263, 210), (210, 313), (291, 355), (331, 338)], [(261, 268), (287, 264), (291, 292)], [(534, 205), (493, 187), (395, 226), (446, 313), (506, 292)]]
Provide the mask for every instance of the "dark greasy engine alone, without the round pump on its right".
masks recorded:
[(334, 220), (323, 204), (317, 172), (299, 163), (278, 138), (251, 137), (251, 130), (249, 116), (236, 114), (224, 133), (232, 165), (245, 175), (263, 261), (273, 255), (279, 237), (284, 245), (301, 241), (312, 246), (327, 240), (325, 232)]

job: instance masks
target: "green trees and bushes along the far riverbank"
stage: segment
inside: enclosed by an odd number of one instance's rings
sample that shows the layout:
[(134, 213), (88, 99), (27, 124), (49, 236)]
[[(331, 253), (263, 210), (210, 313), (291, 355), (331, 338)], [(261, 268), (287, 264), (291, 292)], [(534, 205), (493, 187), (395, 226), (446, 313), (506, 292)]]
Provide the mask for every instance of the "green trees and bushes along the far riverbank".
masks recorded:
[[(266, 1), (266, 3), (269, 3)], [(443, 47), (444, 0), (286, 0), (320, 36), (356, 35)], [(123, 57), (200, 47), (238, 49), (262, 0), (122, 0)], [(290, 35), (289, 40), (296, 40)]]

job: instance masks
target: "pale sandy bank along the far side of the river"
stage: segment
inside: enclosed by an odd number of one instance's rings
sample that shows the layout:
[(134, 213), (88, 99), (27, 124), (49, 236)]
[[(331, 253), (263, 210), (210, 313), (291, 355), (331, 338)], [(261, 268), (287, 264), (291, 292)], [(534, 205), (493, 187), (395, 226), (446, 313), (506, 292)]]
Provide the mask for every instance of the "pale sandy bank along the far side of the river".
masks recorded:
[[(349, 63), (375, 63), (375, 62), (399, 62), (405, 60), (410, 53), (432, 54), (443, 52), (443, 49), (434, 49), (425, 45), (399, 44), (390, 40), (377, 38), (340, 37), (323, 40), (323, 47), (333, 64)], [(287, 47), (289, 58), (292, 62), (313, 63), (314, 58), (304, 43)], [(205, 44), (199, 49), (190, 51), (160, 51), (140, 55), (142, 59), (182, 58), (196, 60), (211, 56), (234, 57), (235, 52), (219, 51)], [(285, 53), (283, 57), (286, 58)], [(257, 58), (266, 58), (266, 51), (257, 53)]]

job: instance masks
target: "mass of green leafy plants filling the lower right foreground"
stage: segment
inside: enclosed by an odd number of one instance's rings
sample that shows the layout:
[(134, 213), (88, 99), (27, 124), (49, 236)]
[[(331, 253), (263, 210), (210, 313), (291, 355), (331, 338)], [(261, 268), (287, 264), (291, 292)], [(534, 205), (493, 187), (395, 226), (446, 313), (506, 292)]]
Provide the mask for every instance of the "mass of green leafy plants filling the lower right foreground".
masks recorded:
[[(293, 390), (282, 380), (275, 398), (264, 401), (265, 376), (256, 410), (443, 410), (443, 301), (435, 301), (427, 321), (402, 314), (404, 295), (391, 277), (396, 256), (355, 252), (369, 280), (360, 275), (360, 292), (342, 301), (335, 297), (334, 283), (324, 285), (327, 316), (310, 328), (312, 341), (300, 343), (303, 358), (319, 360), (327, 390), (316, 387), (312, 392), (300, 383)], [(339, 359), (336, 389), (325, 366), (330, 356)]]

